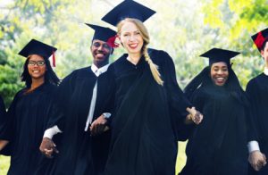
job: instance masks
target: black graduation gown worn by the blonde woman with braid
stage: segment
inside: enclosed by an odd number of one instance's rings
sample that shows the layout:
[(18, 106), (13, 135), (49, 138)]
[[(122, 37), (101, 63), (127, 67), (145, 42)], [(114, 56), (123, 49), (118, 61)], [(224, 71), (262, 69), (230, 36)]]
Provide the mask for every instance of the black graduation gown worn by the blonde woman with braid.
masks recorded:
[(105, 175), (175, 173), (177, 142), (172, 121), (185, 115), (189, 103), (176, 81), (172, 58), (163, 51), (148, 53), (159, 67), (163, 87), (155, 82), (144, 57), (134, 65), (124, 54), (108, 70), (115, 82), (115, 110)]

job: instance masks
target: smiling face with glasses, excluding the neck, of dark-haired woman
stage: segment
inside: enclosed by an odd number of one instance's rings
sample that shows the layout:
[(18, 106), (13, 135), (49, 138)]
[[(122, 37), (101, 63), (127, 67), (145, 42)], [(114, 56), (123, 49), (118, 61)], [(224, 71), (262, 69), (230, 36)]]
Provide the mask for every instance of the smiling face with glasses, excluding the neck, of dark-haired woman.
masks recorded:
[(31, 79), (45, 79), (46, 62), (42, 56), (32, 54), (29, 56), (28, 71)]

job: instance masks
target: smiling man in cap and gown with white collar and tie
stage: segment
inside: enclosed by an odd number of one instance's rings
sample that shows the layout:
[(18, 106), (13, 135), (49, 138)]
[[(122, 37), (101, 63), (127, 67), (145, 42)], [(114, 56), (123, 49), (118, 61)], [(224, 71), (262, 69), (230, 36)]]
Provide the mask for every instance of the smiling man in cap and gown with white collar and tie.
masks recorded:
[[(37, 174), (98, 175), (104, 171), (111, 135), (105, 131), (111, 115), (106, 101), (109, 88), (113, 87), (106, 71), (116, 46), (116, 32), (93, 24), (88, 26), (95, 30), (90, 46), (93, 63), (71, 72), (60, 84), (59, 112), (51, 116), (40, 146), (48, 157), (57, 150), (59, 153), (54, 154), (52, 167), (43, 167)], [(61, 132), (60, 143), (54, 143), (54, 135)]]

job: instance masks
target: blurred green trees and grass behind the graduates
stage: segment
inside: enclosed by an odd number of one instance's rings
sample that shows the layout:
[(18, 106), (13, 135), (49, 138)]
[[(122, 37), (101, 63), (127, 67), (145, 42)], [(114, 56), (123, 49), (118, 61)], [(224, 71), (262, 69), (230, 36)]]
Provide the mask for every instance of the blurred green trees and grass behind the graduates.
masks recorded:
[[(165, 50), (175, 63), (183, 88), (207, 64), (199, 57), (212, 47), (241, 52), (232, 60), (242, 87), (264, 69), (264, 61), (251, 35), (268, 27), (268, 0), (136, 0), (156, 11), (145, 22), (149, 47)], [(58, 48), (54, 71), (63, 79), (71, 71), (91, 64), (93, 29), (105, 27), (100, 19), (121, 0), (0, 0), (0, 95), (6, 107), (23, 87), (17, 53), (31, 38)], [(111, 62), (123, 53), (115, 50)], [(180, 143), (177, 172), (183, 167), (185, 143)], [(6, 174), (9, 157), (0, 156), (0, 174)]]

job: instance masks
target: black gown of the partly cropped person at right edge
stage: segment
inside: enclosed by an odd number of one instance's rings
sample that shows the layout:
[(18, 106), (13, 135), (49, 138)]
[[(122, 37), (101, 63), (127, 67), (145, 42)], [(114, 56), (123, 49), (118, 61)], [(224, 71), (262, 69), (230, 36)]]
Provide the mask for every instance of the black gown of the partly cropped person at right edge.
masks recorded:
[[(257, 137), (261, 152), (268, 155), (268, 76), (264, 73), (251, 79), (247, 84), (247, 96), (250, 99), (253, 121), (257, 131)], [(266, 165), (257, 174), (268, 174)]]

